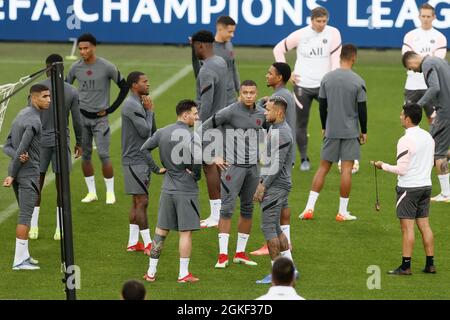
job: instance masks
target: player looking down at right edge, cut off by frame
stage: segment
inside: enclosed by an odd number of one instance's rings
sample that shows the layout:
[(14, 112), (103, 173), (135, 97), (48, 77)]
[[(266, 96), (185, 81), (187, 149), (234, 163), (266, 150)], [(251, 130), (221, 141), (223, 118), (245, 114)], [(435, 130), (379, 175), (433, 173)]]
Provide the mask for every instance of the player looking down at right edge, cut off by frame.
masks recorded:
[(447, 61), (437, 57), (422, 57), (413, 51), (403, 55), (406, 69), (422, 72), (428, 89), (417, 102), (421, 107), (435, 102), (436, 118), (430, 134), (435, 142), (434, 163), (441, 186), (441, 193), (431, 201), (450, 203), (450, 181), (447, 152), (450, 147), (450, 66)]

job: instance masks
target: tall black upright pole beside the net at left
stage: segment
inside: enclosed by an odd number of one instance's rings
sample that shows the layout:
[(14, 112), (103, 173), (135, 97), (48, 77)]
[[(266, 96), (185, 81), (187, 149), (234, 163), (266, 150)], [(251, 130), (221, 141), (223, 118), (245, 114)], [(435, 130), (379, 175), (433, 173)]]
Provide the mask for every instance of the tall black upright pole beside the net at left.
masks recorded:
[[(72, 209), (70, 203), (70, 174), (67, 150), (67, 115), (64, 112), (64, 66), (62, 62), (52, 65), (52, 102), (56, 131), (56, 149), (57, 165), (59, 166), (59, 176), (57, 184), (59, 186), (58, 199), (61, 210), (58, 213), (60, 217), (61, 228), (61, 258), (62, 271), (64, 272), (63, 282), (65, 284), (67, 300), (76, 300), (75, 279), (77, 275), (73, 274), (78, 270), (75, 268), (73, 254), (73, 236), (72, 236)], [(61, 212), (62, 211), (62, 212)]]

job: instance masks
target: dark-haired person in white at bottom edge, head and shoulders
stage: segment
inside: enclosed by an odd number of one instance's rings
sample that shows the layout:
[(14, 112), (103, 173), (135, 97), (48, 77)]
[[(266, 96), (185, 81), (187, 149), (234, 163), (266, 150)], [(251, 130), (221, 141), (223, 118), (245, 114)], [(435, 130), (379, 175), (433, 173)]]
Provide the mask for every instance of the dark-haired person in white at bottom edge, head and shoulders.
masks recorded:
[(279, 257), (272, 266), (272, 287), (256, 300), (305, 300), (294, 289), (295, 266), (292, 260)]

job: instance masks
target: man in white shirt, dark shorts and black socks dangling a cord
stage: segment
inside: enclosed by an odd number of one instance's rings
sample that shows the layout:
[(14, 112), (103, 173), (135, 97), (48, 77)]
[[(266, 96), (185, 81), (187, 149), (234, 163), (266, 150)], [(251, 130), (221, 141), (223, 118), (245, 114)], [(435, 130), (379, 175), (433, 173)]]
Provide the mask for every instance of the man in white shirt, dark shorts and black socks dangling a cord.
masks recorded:
[(431, 135), (419, 127), (422, 109), (417, 104), (406, 104), (400, 113), (405, 135), (397, 144), (397, 164), (376, 161), (378, 169), (398, 175), (397, 217), (402, 229), (402, 264), (392, 275), (410, 275), (414, 248), (414, 222), (422, 234), (426, 254), (423, 272), (436, 273), (434, 266), (434, 239), (428, 216), (430, 213), (431, 170), (433, 169), (434, 141)]

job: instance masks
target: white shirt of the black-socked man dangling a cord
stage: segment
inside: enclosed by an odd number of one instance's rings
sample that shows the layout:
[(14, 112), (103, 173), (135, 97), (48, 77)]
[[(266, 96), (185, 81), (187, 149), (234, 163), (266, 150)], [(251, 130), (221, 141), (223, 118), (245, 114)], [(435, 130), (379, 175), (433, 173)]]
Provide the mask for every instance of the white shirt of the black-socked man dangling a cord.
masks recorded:
[(434, 140), (419, 126), (408, 128), (397, 144), (397, 165), (383, 163), (383, 170), (398, 175), (402, 188), (431, 186), (434, 165)]

